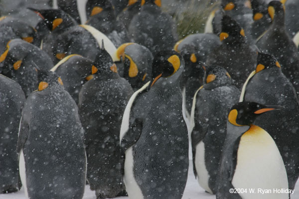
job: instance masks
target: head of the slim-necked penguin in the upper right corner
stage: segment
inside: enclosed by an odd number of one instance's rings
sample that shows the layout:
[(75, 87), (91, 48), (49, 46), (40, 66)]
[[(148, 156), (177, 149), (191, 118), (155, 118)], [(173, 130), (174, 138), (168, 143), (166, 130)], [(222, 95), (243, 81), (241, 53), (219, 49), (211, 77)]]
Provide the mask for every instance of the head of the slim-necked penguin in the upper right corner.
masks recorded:
[[(284, 1), (283, 1), (284, 2)], [(268, 13), (273, 22), (284, 25), (285, 23), (285, 5), (278, 0), (273, 0), (268, 4)]]

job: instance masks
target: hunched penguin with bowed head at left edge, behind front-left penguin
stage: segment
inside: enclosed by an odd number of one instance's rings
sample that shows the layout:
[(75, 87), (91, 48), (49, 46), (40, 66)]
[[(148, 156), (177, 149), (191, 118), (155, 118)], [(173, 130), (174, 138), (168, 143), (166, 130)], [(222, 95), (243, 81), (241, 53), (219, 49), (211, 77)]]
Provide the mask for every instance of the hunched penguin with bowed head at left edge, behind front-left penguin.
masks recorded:
[(7, 42), (6, 50), (0, 55), (0, 73), (16, 81), (26, 97), (36, 89), (38, 83), (35, 65), (43, 70), (53, 67), (47, 53), (21, 39)]

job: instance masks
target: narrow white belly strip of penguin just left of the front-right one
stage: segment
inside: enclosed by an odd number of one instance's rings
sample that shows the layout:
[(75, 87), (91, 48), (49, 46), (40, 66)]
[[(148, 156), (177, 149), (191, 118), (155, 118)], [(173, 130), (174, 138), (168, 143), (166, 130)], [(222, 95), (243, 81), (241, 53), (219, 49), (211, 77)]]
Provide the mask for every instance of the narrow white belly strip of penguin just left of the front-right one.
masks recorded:
[(207, 171), (205, 165), (205, 147), (204, 143), (201, 141), (196, 146), (196, 153), (195, 153), (195, 168), (197, 172), (197, 181), (199, 185), (210, 194), (213, 194), (212, 190), (209, 187), (209, 179), (210, 175)]

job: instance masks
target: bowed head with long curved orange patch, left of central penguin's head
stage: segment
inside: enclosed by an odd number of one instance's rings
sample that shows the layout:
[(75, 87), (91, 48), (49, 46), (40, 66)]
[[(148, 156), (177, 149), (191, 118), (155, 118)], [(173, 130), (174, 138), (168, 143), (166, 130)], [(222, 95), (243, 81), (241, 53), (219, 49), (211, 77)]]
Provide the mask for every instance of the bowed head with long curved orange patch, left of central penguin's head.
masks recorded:
[(125, 43), (117, 49), (117, 56), (124, 62), (124, 78), (134, 86), (142, 86), (151, 78), (153, 56), (150, 50), (137, 43)]

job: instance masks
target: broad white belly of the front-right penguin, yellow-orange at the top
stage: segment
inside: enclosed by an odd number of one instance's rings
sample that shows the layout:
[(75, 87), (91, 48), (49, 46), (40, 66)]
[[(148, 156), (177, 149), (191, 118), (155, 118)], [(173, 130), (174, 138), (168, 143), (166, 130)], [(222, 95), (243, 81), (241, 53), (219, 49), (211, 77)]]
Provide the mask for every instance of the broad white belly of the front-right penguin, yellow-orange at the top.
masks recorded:
[(281, 154), (264, 129), (252, 125), (241, 137), (232, 185), (247, 189), (240, 194), (242, 199), (289, 199), (287, 193), (275, 193), (289, 188), (288, 177)]

